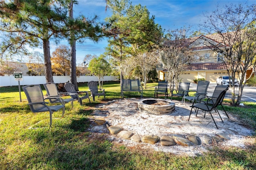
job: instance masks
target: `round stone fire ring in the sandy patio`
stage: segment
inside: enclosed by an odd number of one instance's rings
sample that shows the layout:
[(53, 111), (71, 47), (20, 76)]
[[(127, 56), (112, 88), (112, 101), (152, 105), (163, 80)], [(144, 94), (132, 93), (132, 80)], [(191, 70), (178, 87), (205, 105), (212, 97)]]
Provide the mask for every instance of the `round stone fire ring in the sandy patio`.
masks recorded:
[(169, 99), (142, 99), (138, 101), (138, 109), (152, 115), (168, 115), (175, 111), (175, 103)]

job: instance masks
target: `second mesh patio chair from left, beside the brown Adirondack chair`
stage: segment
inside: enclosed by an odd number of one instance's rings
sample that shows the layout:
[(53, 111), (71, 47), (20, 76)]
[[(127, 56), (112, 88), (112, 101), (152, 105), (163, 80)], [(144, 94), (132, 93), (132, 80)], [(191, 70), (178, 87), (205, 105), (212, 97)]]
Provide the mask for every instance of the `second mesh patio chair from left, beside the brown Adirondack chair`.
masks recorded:
[(58, 97), (60, 98), (65, 104), (68, 102), (71, 102), (71, 106), (73, 108), (73, 98), (68, 98), (68, 99), (63, 99), (61, 94), (66, 94), (68, 93), (59, 93), (57, 86), (55, 83), (45, 83), (44, 88), (46, 90), (47, 97), (45, 99), (49, 99), (50, 103), (60, 103), (59, 100), (57, 99), (52, 99), (52, 97)]

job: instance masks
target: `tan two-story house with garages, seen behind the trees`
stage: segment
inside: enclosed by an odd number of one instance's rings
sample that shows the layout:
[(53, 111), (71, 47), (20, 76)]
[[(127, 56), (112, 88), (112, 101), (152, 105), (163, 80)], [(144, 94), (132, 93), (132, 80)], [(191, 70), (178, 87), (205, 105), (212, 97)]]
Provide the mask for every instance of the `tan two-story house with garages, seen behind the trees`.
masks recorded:
[[(190, 42), (188, 48), (195, 53), (195, 60), (186, 67), (186, 71), (180, 74), (182, 82), (193, 83), (194, 79), (204, 78), (210, 83), (216, 83), (219, 76), (228, 75), (226, 66), (221, 59), (222, 55), (212, 51), (208, 46), (210, 44), (220, 44), (221, 39), (218, 34), (190, 38), (188, 42)], [(159, 79), (165, 80), (167, 71), (161, 68), (157, 70)], [(247, 75), (250, 75), (251, 71), (252, 69), (248, 70)]]

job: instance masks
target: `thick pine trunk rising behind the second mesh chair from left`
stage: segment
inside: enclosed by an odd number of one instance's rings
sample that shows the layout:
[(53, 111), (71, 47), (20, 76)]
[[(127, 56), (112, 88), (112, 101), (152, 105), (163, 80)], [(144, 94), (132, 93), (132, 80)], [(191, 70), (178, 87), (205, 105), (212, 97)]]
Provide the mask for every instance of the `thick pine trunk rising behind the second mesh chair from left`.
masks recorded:
[(49, 40), (43, 40), (43, 49), (44, 49), (44, 69), (46, 82), (54, 82), (52, 77), (52, 63), (51, 63), (51, 54), (50, 54), (50, 42)]

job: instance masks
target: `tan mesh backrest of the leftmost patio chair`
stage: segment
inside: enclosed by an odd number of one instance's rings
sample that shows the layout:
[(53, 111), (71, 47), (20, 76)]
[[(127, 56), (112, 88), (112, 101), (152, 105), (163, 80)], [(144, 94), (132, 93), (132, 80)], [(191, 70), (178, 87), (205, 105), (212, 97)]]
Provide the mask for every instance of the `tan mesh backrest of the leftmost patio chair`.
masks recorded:
[[(26, 85), (22, 87), (28, 103), (44, 102), (44, 95), (40, 85)], [(39, 112), (42, 108), (45, 108), (43, 105), (29, 105), (32, 112)]]

